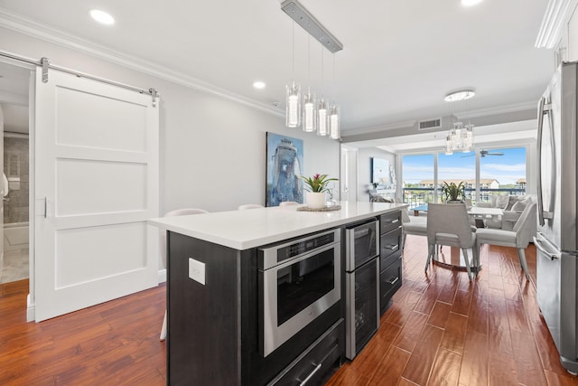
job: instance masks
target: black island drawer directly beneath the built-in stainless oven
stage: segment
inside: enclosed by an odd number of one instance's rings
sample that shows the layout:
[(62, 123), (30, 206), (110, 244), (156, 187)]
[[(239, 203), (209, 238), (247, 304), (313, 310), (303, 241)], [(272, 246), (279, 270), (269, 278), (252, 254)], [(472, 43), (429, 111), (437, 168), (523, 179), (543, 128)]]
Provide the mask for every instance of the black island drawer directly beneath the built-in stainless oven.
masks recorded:
[(336, 323), (268, 385), (318, 384), (342, 354), (343, 319)]

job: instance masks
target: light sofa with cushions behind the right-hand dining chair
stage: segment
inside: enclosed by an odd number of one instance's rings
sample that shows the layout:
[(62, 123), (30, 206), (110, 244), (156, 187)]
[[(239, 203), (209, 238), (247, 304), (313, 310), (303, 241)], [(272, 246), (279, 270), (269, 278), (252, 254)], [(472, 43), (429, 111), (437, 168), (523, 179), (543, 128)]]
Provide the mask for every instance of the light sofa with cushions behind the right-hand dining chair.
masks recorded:
[(516, 224), (520, 214), (524, 212), (527, 204), (530, 202), (536, 202), (536, 196), (534, 194), (490, 194), (489, 200), (490, 202), (478, 202), (476, 203), (476, 206), (481, 208), (500, 208), (504, 210), (504, 214), (498, 219), (486, 219), (484, 221), (486, 227), (512, 231), (514, 229), (514, 224)]

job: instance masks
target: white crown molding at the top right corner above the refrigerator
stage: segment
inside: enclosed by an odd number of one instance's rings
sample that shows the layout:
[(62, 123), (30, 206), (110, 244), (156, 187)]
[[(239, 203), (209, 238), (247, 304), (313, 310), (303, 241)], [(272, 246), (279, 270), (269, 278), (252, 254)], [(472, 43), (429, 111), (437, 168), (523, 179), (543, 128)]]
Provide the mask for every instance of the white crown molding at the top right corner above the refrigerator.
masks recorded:
[(548, 2), (534, 44), (536, 48), (555, 48), (564, 30), (564, 22), (576, 4), (576, 0), (550, 0)]

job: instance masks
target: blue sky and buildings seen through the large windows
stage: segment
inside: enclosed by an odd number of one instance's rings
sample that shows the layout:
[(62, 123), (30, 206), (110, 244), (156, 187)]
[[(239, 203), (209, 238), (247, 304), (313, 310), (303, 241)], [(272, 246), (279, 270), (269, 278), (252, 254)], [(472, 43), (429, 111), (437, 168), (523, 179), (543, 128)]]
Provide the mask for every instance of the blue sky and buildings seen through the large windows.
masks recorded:
[(480, 198), (476, 197), (476, 157), (473, 152), (404, 155), (402, 178), (404, 202), (410, 207), (440, 202), (434, 194), (433, 157), (438, 156), (437, 182), (466, 185), (466, 195), (473, 203), (489, 201), (491, 193), (525, 194), (526, 148), (484, 149), (480, 156)]

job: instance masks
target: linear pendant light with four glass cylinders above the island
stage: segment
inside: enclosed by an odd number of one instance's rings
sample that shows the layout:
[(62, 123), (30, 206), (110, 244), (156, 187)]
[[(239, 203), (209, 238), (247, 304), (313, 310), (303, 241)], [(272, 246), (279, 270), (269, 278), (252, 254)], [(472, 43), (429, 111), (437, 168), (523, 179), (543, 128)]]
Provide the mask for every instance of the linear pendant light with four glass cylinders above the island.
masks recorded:
[[(343, 45), (335, 39), (319, 22), (296, 0), (285, 0), (281, 5), (286, 14), (299, 23), (313, 38), (322, 42), (322, 89), (323, 89), (323, 48), (337, 52)], [(315, 27), (315, 28), (312, 28)], [(293, 32), (294, 34), (294, 25)], [(294, 73), (294, 36), (293, 73)], [(308, 56), (309, 56), (308, 47)], [(309, 62), (308, 62), (309, 67)], [(308, 71), (310, 69), (308, 68)], [(311, 82), (311, 77), (309, 77)], [(333, 58), (333, 82), (335, 81), (335, 58)], [(340, 139), (340, 107), (335, 101), (326, 99), (323, 94), (318, 99), (311, 87), (303, 92), (301, 85), (293, 80), (285, 86), (285, 126), (302, 127), (303, 131), (316, 132), (318, 136)]]

